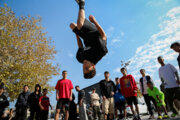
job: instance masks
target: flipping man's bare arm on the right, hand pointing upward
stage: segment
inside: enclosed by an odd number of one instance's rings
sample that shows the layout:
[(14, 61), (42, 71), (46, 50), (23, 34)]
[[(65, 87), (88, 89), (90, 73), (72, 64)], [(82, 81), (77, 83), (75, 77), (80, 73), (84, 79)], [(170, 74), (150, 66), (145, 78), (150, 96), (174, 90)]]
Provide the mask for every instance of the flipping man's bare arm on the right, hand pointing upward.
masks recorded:
[(90, 15), (90, 16), (89, 16), (89, 20), (90, 20), (92, 23), (94, 23), (94, 25), (95, 25), (96, 28), (98, 29), (98, 31), (99, 31), (102, 39), (103, 39), (103, 40), (106, 40), (106, 34), (105, 34), (104, 30), (102, 29), (102, 27), (99, 25), (99, 23), (96, 21), (95, 17), (92, 16), (92, 15)]

